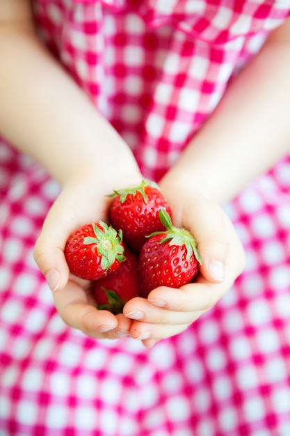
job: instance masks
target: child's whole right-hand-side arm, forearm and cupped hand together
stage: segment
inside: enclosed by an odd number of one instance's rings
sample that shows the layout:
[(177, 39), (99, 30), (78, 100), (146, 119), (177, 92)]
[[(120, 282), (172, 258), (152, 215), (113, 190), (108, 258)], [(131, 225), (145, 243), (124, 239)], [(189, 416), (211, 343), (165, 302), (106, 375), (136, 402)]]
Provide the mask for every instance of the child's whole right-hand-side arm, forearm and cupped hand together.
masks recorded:
[(146, 338), (145, 345), (182, 332), (241, 274), (243, 248), (218, 204), (234, 198), (289, 150), (289, 77), (290, 20), (232, 81), (214, 114), (161, 180), (175, 225), (188, 228), (198, 241), (202, 276), (178, 290), (156, 288), (145, 302), (127, 303), (124, 313), (135, 319), (131, 334)]

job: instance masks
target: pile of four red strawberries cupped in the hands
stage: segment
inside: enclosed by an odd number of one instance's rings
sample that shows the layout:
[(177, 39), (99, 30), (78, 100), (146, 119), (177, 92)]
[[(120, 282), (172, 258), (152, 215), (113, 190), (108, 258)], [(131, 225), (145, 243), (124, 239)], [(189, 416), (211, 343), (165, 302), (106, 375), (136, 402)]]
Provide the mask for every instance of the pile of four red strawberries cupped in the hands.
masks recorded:
[(78, 228), (67, 240), (65, 258), (72, 274), (92, 282), (97, 308), (117, 314), (129, 299), (147, 297), (158, 286), (190, 283), (202, 260), (191, 233), (172, 226), (156, 183), (143, 180), (111, 196), (111, 224)]

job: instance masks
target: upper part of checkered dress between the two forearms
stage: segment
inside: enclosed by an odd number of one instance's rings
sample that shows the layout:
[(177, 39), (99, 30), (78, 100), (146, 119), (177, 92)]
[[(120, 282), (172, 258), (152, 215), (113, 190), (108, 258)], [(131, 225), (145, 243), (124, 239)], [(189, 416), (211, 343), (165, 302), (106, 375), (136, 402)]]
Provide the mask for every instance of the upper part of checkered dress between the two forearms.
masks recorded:
[(42, 0), (37, 6), (51, 49), (136, 150), (144, 176), (159, 180), (229, 78), (289, 15), (290, 0)]

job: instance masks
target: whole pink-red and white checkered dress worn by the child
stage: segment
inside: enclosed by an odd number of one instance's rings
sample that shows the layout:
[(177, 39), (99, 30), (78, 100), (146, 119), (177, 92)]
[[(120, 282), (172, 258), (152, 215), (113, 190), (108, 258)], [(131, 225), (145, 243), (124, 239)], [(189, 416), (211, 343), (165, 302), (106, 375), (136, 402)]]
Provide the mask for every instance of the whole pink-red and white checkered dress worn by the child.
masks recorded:
[[(34, 3), (47, 45), (156, 180), (290, 15), (290, 0)], [(149, 350), (56, 313), (32, 251), (58, 190), (0, 142), (0, 435), (289, 436), (290, 156), (226, 205), (248, 256), (232, 290)]]

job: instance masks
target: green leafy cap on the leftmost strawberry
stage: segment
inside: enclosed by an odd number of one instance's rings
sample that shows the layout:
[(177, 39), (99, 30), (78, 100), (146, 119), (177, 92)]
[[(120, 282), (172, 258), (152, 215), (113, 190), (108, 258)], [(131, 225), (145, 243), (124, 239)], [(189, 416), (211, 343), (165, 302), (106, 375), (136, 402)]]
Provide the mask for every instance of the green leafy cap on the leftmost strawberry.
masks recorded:
[(122, 245), (122, 231), (115, 231), (115, 228), (108, 226), (104, 221), (99, 221), (97, 226), (92, 223), (95, 238), (86, 236), (83, 238), (83, 244), (96, 244), (97, 253), (101, 256), (101, 267), (108, 270), (115, 260), (122, 262), (124, 257), (124, 246)]

